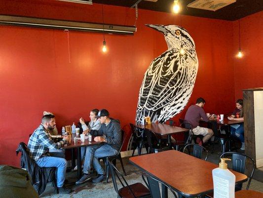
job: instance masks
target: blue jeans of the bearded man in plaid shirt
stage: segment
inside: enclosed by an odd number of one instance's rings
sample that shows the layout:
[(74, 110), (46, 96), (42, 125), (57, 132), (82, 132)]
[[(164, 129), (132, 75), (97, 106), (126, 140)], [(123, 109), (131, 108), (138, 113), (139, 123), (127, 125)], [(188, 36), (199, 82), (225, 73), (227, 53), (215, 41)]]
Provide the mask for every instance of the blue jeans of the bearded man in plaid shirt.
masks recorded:
[(36, 163), (39, 167), (57, 167), (57, 187), (63, 186), (67, 169), (65, 158), (45, 156), (39, 158)]

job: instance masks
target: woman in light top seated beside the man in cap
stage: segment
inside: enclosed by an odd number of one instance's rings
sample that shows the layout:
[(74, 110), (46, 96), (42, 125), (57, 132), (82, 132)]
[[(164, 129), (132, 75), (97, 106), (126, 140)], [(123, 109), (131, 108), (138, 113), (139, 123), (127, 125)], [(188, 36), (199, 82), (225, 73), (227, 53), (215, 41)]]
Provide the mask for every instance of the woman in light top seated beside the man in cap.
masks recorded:
[[(83, 131), (90, 129), (90, 130), (99, 130), (101, 128), (101, 122), (96, 118), (96, 115), (98, 115), (99, 109), (93, 109), (89, 113), (90, 122), (88, 126), (85, 124), (84, 119), (81, 117), (79, 118), (79, 122), (81, 124), (81, 127)], [(86, 153), (86, 147), (81, 147), (81, 160), (84, 159)]]

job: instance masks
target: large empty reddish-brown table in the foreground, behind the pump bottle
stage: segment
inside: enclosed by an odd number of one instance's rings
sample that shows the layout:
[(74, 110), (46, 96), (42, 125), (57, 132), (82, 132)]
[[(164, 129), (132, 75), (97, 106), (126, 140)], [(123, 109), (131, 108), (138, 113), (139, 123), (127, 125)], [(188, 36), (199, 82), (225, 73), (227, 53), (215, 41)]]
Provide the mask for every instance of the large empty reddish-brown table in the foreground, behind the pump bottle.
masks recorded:
[[(171, 186), (181, 196), (197, 197), (213, 193), (212, 170), (218, 165), (177, 150), (131, 157), (129, 161), (144, 172)], [(231, 171), (236, 183), (247, 181), (247, 176)], [(167, 197), (164, 188), (163, 198)]]

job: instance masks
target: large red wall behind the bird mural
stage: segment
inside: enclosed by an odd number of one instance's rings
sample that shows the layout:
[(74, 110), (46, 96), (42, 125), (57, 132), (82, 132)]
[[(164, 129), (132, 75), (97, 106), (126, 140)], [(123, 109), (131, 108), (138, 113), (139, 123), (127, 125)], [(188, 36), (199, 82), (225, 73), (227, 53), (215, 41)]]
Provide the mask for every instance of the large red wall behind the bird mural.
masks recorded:
[[(105, 22), (134, 24), (134, 10), (105, 5)], [(102, 22), (101, 5), (54, 0), (2, 0), (1, 14)], [(58, 130), (88, 119), (93, 108), (134, 123), (140, 85), (153, 58), (167, 49), (163, 35), (144, 24), (176, 24), (179, 16), (139, 10), (134, 36), (103, 35), (61, 30), (0, 26), (0, 164), (19, 165), (15, 149), (28, 142), (42, 112), (56, 115)], [(229, 112), (234, 101), (233, 23), (182, 16), (182, 25), (195, 41), (199, 69), (189, 104), (206, 99), (210, 113)], [(177, 118), (185, 113), (178, 115)]]

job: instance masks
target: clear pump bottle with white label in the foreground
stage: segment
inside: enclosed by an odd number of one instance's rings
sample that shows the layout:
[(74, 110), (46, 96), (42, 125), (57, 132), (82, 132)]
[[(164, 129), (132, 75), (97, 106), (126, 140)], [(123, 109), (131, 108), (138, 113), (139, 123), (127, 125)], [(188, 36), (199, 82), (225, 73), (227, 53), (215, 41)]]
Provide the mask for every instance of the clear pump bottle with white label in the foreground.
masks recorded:
[(219, 168), (212, 170), (214, 198), (235, 198), (235, 175), (227, 169), (226, 160), (221, 158)]

